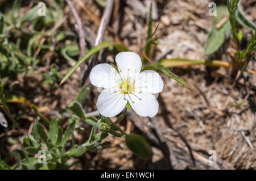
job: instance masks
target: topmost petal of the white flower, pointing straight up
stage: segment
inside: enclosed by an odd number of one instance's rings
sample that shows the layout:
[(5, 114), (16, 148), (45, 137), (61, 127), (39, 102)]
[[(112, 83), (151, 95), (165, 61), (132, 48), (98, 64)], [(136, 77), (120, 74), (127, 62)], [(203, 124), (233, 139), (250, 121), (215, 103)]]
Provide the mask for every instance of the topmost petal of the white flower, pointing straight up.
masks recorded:
[(120, 52), (115, 56), (117, 68), (123, 77), (133, 77), (133, 74), (139, 74), (142, 68), (141, 57), (134, 52)]

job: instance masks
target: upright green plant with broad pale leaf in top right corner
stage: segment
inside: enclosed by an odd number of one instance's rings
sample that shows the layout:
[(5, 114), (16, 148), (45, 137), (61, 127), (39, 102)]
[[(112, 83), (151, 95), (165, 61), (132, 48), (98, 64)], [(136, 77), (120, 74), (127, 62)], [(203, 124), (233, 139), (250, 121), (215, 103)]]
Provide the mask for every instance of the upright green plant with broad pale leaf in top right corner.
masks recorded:
[[(227, 21), (227, 15), (229, 15), (229, 21)], [(254, 31), (251, 41), (245, 49), (241, 48), (243, 32), (238, 24)], [(217, 7), (217, 16), (214, 18), (212, 31), (210, 31), (207, 43), (205, 44), (205, 54), (216, 52), (224, 43), (225, 38), (230, 37), (230, 30), (232, 30), (232, 38), (234, 43), (236, 43), (235, 48), (237, 49), (236, 54), (232, 57), (233, 64), (230, 67), (233, 68), (233, 77), (237, 76), (239, 69), (241, 70), (240, 75), (237, 77), (239, 79), (253, 58), (256, 49), (256, 28), (253, 22), (246, 18), (240, 0), (228, 0), (227, 6)]]

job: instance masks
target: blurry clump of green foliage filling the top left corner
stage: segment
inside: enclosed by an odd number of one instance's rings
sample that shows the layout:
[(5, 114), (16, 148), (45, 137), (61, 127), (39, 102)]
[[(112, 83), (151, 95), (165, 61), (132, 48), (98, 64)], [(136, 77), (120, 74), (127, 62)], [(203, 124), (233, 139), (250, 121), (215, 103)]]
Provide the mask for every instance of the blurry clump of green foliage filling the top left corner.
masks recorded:
[[(55, 5), (54, 9), (47, 7), (47, 16), (38, 15), (38, 6), (32, 7), (26, 14), (20, 16), (22, 3), (15, 0), (13, 7), (6, 10), (6, 14), (0, 13), (1, 77), (13, 77), (18, 73), (34, 71), (38, 64), (44, 63), (50, 56), (40, 54), (44, 50), (49, 50), (51, 56), (57, 56), (58, 47), (63, 40), (60, 35), (65, 35), (57, 31), (63, 21), (63, 10), (59, 3)], [(52, 46), (55, 37), (56, 48)]]

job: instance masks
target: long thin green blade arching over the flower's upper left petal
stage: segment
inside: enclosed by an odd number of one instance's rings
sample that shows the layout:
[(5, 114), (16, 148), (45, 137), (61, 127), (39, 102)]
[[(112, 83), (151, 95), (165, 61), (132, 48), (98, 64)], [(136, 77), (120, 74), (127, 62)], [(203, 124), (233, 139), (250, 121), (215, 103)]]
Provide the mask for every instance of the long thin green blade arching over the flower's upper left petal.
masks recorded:
[(79, 68), (79, 66), (85, 62), (90, 56), (92, 56), (93, 54), (96, 54), (97, 52), (99, 52), (102, 49), (108, 48), (110, 46), (114, 46), (117, 49), (121, 49), (121, 50), (125, 50), (127, 48), (125, 48), (123, 45), (117, 44), (114, 41), (104, 41), (100, 44), (98, 44), (97, 46), (91, 48), (90, 50), (88, 50), (84, 56), (82, 56), (80, 58), (80, 60), (78, 60), (76, 62), (76, 64), (68, 71), (68, 73), (64, 76), (64, 78), (61, 80), (60, 85), (63, 84), (69, 76), (71, 76), (71, 74), (74, 73), (74, 71)]

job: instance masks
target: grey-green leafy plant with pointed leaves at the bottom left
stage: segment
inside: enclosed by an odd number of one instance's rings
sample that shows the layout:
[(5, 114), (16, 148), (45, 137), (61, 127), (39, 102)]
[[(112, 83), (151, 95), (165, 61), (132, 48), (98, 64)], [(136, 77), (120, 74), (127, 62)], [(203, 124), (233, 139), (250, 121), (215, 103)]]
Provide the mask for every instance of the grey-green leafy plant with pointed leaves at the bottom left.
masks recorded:
[[(97, 149), (102, 146), (101, 140), (107, 134), (96, 134), (92, 130), (89, 140), (82, 146), (74, 145), (68, 151), (65, 149), (69, 137), (73, 135), (76, 121), (70, 119), (65, 132), (58, 126), (56, 119), (52, 119), (49, 125), (49, 134), (42, 124), (35, 122), (32, 135), (23, 138), (24, 150), (14, 150), (19, 157), (22, 169), (65, 169), (68, 168), (67, 160), (70, 157), (79, 157), (87, 149)], [(42, 141), (40, 141), (42, 140)], [(43, 156), (40, 155), (43, 153)], [(39, 158), (36, 155), (39, 154)]]

